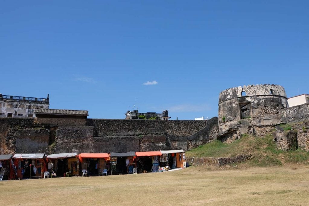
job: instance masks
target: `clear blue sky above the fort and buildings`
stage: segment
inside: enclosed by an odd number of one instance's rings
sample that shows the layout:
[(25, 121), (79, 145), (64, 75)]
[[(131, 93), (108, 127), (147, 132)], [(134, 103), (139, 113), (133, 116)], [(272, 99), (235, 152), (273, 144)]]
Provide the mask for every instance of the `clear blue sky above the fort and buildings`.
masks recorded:
[[(308, 1), (1, 1), (0, 93), (190, 120), (230, 87), (309, 93)], [(148, 83), (145, 85), (144, 83)]]

